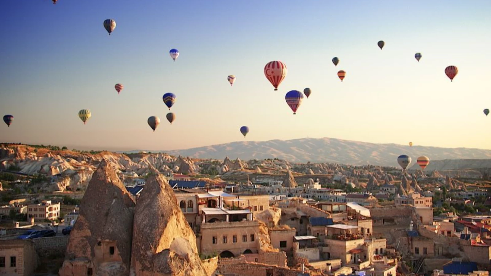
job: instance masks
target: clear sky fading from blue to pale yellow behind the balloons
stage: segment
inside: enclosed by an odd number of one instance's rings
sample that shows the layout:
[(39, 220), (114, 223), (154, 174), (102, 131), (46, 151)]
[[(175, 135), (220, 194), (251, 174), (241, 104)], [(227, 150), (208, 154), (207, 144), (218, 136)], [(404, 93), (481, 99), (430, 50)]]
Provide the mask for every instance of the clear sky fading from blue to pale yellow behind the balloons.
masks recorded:
[[(1, 1), (0, 113), (14, 121), (0, 142), (172, 150), (328, 137), (491, 149), (490, 13), (489, 0)], [(263, 72), (272, 60), (288, 67), (278, 91)], [(293, 115), (285, 94), (305, 87)], [(166, 92), (177, 95), (172, 125)]]

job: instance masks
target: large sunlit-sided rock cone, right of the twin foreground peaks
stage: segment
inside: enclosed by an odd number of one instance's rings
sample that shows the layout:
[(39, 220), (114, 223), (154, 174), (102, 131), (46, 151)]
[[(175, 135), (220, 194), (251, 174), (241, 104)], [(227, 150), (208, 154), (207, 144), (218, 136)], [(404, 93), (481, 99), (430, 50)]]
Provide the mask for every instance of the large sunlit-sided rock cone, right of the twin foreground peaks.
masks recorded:
[(147, 180), (138, 198), (131, 264), (135, 276), (207, 276), (196, 237), (160, 174)]

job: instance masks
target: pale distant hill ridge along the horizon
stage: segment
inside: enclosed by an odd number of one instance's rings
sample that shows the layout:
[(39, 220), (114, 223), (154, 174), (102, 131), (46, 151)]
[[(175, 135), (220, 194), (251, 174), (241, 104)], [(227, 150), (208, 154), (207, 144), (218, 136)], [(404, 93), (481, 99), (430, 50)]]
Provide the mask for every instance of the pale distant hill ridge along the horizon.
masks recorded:
[[(226, 156), (230, 158), (238, 157), (242, 160), (279, 158), (294, 163), (306, 163), (310, 161), (379, 166), (398, 166), (397, 157), (401, 154), (409, 155), (414, 164), (416, 163), (417, 157), (421, 155), (428, 156), (432, 161), (447, 159), (491, 159), (491, 150), (485, 149), (427, 146), (409, 147), (409, 145), (376, 144), (334, 138), (240, 141), (165, 152), (174, 156), (182, 155), (193, 158), (223, 159)], [(490, 162), (483, 164), (490, 164)], [(432, 165), (433, 162), (430, 163), (430, 166)]]

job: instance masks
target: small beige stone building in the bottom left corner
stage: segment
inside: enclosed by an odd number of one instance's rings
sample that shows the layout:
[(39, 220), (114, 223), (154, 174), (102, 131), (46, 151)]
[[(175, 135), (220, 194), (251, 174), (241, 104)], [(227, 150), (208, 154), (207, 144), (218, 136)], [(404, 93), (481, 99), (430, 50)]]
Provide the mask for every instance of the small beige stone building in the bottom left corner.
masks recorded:
[(37, 255), (31, 240), (0, 242), (0, 275), (31, 276), (37, 267)]

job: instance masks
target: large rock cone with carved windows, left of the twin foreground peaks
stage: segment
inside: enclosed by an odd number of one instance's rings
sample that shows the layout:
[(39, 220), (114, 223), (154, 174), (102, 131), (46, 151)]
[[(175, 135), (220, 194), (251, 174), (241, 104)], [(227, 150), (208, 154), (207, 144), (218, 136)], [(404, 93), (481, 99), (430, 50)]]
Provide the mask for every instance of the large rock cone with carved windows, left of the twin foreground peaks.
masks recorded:
[(103, 160), (82, 198), (60, 276), (127, 276), (135, 202)]

